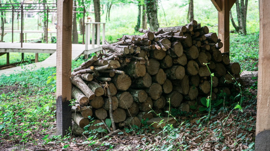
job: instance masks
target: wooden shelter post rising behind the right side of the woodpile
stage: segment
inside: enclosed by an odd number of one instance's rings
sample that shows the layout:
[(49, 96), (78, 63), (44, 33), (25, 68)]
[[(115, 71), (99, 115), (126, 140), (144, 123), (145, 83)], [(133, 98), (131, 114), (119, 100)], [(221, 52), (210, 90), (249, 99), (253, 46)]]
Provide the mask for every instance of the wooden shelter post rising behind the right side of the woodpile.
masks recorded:
[(221, 11), (218, 11), (218, 38), (223, 47), (221, 52), (230, 51), (230, 7), (228, 0), (221, 0)]

